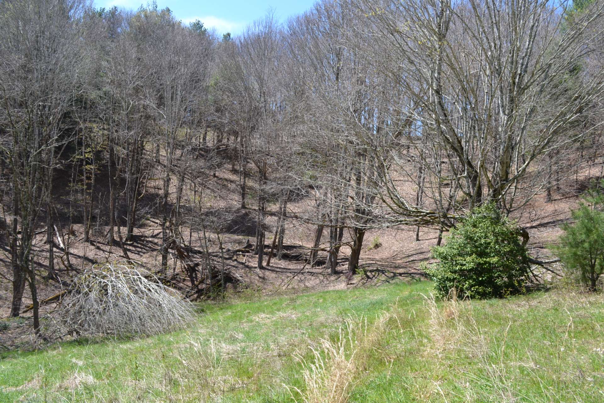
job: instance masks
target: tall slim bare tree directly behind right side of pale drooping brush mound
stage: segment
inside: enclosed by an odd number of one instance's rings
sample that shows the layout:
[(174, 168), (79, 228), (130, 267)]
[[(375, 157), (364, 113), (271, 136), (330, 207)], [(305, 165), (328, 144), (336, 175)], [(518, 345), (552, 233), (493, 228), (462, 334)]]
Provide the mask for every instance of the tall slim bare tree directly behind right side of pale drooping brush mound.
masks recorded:
[[(197, 114), (191, 114), (191, 109), (197, 106), (199, 92), (206, 85), (204, 69), (200, 68), (204, 65), (205, 54), (204, 48), (198, 47), (199, 42), (195, 37), (199, 33), (183, 27), (168, 9), (140, 10), (133, 16), (130, 28), (137, 36), (141, 57), (144, 57), (149, 72), (143, 84), (144, 103), (161, 133), (158, 139), (161, 142), (158, 144), (164, 147), (160, 253), (161, 269), (166, 271), (168, 249), (175, 240), (174, 227), (170, 225), (172, 175), (177, 160), (186, 155), (185, 152), (178, 154), (180, 140), (185, 140), (194, 126), (195, 122), (191, 119), (198, 118)], [(182, 172), (176, 184), (177, 189), (182, 189)]]

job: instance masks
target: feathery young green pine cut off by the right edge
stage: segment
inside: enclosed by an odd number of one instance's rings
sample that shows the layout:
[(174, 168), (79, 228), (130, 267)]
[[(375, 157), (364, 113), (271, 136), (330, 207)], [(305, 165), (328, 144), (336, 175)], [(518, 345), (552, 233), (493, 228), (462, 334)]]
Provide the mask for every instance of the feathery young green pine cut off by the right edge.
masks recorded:
[(561, 245), (551, 248), (570, 274), (578, 274), (580, 282), (596, 291), (604, 272), (604, 193), (593, 185), (583, 201), (571, 213), (574, 224), (562, 225)]

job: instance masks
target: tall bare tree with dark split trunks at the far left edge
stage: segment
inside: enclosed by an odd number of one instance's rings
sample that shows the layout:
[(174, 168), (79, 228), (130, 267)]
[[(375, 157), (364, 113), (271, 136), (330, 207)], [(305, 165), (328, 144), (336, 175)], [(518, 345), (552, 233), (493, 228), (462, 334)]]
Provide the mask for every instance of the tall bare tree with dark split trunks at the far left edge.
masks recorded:
[(78, 96), (82, 57), (76, 37), (82, 11), (79, 1), (0, 3), (2, 134), (11, 138), (11, 148), (4, 155), (13, 175), (11, 315), (19, 315), (27, 280), (36, 332), (34, 230), (40, 212), (46, 209), (50, 214), (51, 171), (73, 129), (65, 113)]

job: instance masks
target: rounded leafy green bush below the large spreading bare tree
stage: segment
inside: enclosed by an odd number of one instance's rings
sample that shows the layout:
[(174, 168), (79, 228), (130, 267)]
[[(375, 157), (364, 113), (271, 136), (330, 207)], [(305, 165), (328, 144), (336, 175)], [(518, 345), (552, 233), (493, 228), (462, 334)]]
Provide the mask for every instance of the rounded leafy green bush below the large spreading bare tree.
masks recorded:
[(445, 246), (432, 248), (432, 257), (439, 262), (426, 272), (443, 298), (452, 288), (471, 298), (515, 294), (522, 290), (530, 267), (518, 227), (493, 204), (472, 210), (451, 229)]

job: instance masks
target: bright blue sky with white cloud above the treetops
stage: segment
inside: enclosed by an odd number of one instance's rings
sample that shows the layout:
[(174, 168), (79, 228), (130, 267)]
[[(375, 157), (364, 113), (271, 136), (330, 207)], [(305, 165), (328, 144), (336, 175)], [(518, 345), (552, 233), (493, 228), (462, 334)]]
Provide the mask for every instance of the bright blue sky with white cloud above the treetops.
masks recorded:
[[(162, 1), (157, 0), (159, 8), (169, 7), (176, 18), (184, 22), (199, 19), (208, 28), (216, 28), (217, 33), (239, 33), (246, 25), (266, 15), (272, 8), (279, 21), (299, 14), (314, 4), (315, 0), (201, 0), (201, 1)], [(136, 9), (147, 0), (95, 0), (96, 7)]]

